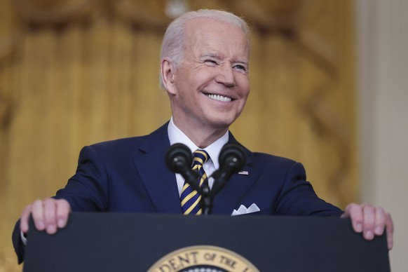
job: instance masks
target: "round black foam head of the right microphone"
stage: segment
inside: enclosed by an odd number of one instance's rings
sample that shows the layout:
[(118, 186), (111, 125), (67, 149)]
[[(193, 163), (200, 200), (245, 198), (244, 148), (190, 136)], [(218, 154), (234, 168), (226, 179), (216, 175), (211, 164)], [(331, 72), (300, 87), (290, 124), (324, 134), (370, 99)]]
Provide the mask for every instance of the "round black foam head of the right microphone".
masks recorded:
[(227, 143), (219, 152), (218, 161), (220, 169), (227, 167), (239, 171), (246, 163), (245, 151), (238, 144)]

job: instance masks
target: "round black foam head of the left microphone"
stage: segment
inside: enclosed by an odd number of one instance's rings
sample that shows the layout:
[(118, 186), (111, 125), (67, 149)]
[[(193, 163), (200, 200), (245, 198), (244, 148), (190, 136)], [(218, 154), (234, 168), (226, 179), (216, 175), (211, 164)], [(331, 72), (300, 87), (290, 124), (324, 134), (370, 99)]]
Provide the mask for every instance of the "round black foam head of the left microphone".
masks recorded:
[(172, 172), (179, 173), (193, 163), (191, 150), (184, 144), (173, 144), (165, 154), (165, 163)]

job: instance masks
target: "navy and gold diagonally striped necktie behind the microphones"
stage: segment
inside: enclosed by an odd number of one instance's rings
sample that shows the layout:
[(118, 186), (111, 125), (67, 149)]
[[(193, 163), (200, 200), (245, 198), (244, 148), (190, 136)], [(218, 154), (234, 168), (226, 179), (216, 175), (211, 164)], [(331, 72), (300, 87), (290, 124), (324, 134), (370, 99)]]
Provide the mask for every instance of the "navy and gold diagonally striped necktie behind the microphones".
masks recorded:
[[(207, 151), (203, 149), (197, 149), (193, 153), (193, 170), (198, 170), (198, 180), (200, 181), (200, 188), (203, 187), (203, 184), (208, 184), (207, 174), (204, 172), (203, 165), (210, 156)], [(196, 191), (193, 190), (188, 182), (184, 182), (182, 189), (182, 195), (180, 196), (182, 202), (182, 210), (184, 215), (201, 215), (203, 212), (200, 207), (201, 196)]]

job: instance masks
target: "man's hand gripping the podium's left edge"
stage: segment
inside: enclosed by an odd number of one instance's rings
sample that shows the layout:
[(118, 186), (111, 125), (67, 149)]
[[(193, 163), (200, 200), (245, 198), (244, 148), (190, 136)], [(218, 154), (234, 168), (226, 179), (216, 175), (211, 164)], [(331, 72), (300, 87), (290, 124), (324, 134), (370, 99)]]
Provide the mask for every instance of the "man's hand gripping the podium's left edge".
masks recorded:
[(35, 200), (31, 205), (27, 205), (20, 217), (20, 230), (22, 233), (28, 232), (29, 215), (34, 219), (36, 229), (54, 234), (57, 229), (67, 226), (71, 206), (67, 200), (47, 198), (45, 200)]

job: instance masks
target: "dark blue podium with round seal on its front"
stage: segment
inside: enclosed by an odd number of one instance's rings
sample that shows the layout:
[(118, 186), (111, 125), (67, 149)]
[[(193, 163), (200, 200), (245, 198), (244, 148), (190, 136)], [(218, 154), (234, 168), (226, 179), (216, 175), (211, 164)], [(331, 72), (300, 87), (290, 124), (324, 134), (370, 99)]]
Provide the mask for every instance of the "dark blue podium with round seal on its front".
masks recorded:
[(386, 235), (349, 219), (72, 213), (55, 235), (30, 223), (23, 271), (390, 271)]

